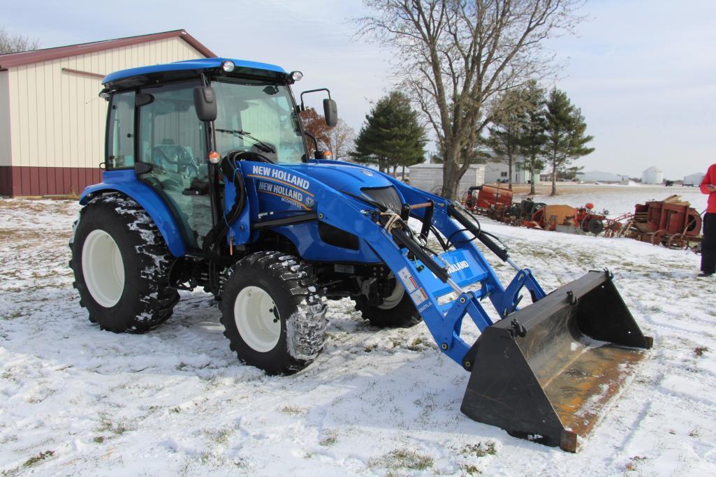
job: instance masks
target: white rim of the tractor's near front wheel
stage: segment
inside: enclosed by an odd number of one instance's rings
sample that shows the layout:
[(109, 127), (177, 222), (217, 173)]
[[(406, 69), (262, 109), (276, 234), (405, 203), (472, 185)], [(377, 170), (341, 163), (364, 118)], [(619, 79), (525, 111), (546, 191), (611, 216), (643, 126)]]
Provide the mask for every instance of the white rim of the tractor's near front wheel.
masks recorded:
[[(272, 310), (276, 309), (276, 314)], [(271, 295), (258, 286), (246, 286), (233, 302), (233, 319), (241, 339), (253, 350), (265, 353), (281, 337), (281, 319)]]

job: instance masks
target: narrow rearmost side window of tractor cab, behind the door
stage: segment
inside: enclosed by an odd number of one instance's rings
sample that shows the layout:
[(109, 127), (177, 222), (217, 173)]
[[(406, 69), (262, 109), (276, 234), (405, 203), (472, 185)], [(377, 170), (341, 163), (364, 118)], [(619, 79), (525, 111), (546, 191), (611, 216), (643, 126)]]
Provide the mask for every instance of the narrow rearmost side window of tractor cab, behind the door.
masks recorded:
[(132, 168), (135, 163), (135, 92), (112, 95), (107, 124), (107, 169)]

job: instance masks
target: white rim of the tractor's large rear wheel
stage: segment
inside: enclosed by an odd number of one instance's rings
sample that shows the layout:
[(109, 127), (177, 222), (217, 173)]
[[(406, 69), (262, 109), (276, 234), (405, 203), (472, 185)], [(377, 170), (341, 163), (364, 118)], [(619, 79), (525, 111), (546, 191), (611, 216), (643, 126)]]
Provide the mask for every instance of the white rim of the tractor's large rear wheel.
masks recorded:
[(114, 307), (125, 289), (125, 265), (117, 242), (99, 228), (89, 233), (82, 246), (82, 274), (97, 304)]

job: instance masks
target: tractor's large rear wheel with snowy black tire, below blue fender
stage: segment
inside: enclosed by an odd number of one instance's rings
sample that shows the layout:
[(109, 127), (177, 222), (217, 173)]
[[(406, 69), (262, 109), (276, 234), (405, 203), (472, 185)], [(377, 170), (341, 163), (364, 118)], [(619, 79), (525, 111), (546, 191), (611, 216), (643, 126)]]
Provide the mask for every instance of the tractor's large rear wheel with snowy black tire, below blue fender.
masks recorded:
[(79, 305), (101, 329), (142, 333), (172, 315), (179, 301), (167, 286), (172, 256), (150, 216), (132, 199), (92, 199), (79, 212), (69, 248)]

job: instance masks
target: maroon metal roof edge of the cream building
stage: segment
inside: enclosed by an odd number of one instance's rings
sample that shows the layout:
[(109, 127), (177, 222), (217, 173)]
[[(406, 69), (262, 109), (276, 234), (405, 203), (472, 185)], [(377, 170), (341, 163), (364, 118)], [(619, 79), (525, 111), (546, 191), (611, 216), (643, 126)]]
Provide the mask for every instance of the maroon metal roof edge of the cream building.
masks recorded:
[(185, 30), (173, 30), (171, 32), (138, 35), (137, 37), (110, 39), (102, 42), (72, 44), (67, 47), (44, 48), (36, 49), (30, 52), (0, 54), (0, 69), (17, 67), (21, 66), (22, 64), (44, 62), (49, 59), (73, 57), (77, 54), (101, 52), (105, 49), (127, 47), (132, 44), (154, 42), (159, 39), (172, 37), (180, 37), (207, 58), (216, 57), (216, 54), (214, 54), (211, 49), (205, 47), (197, 39), (185, 32)]

